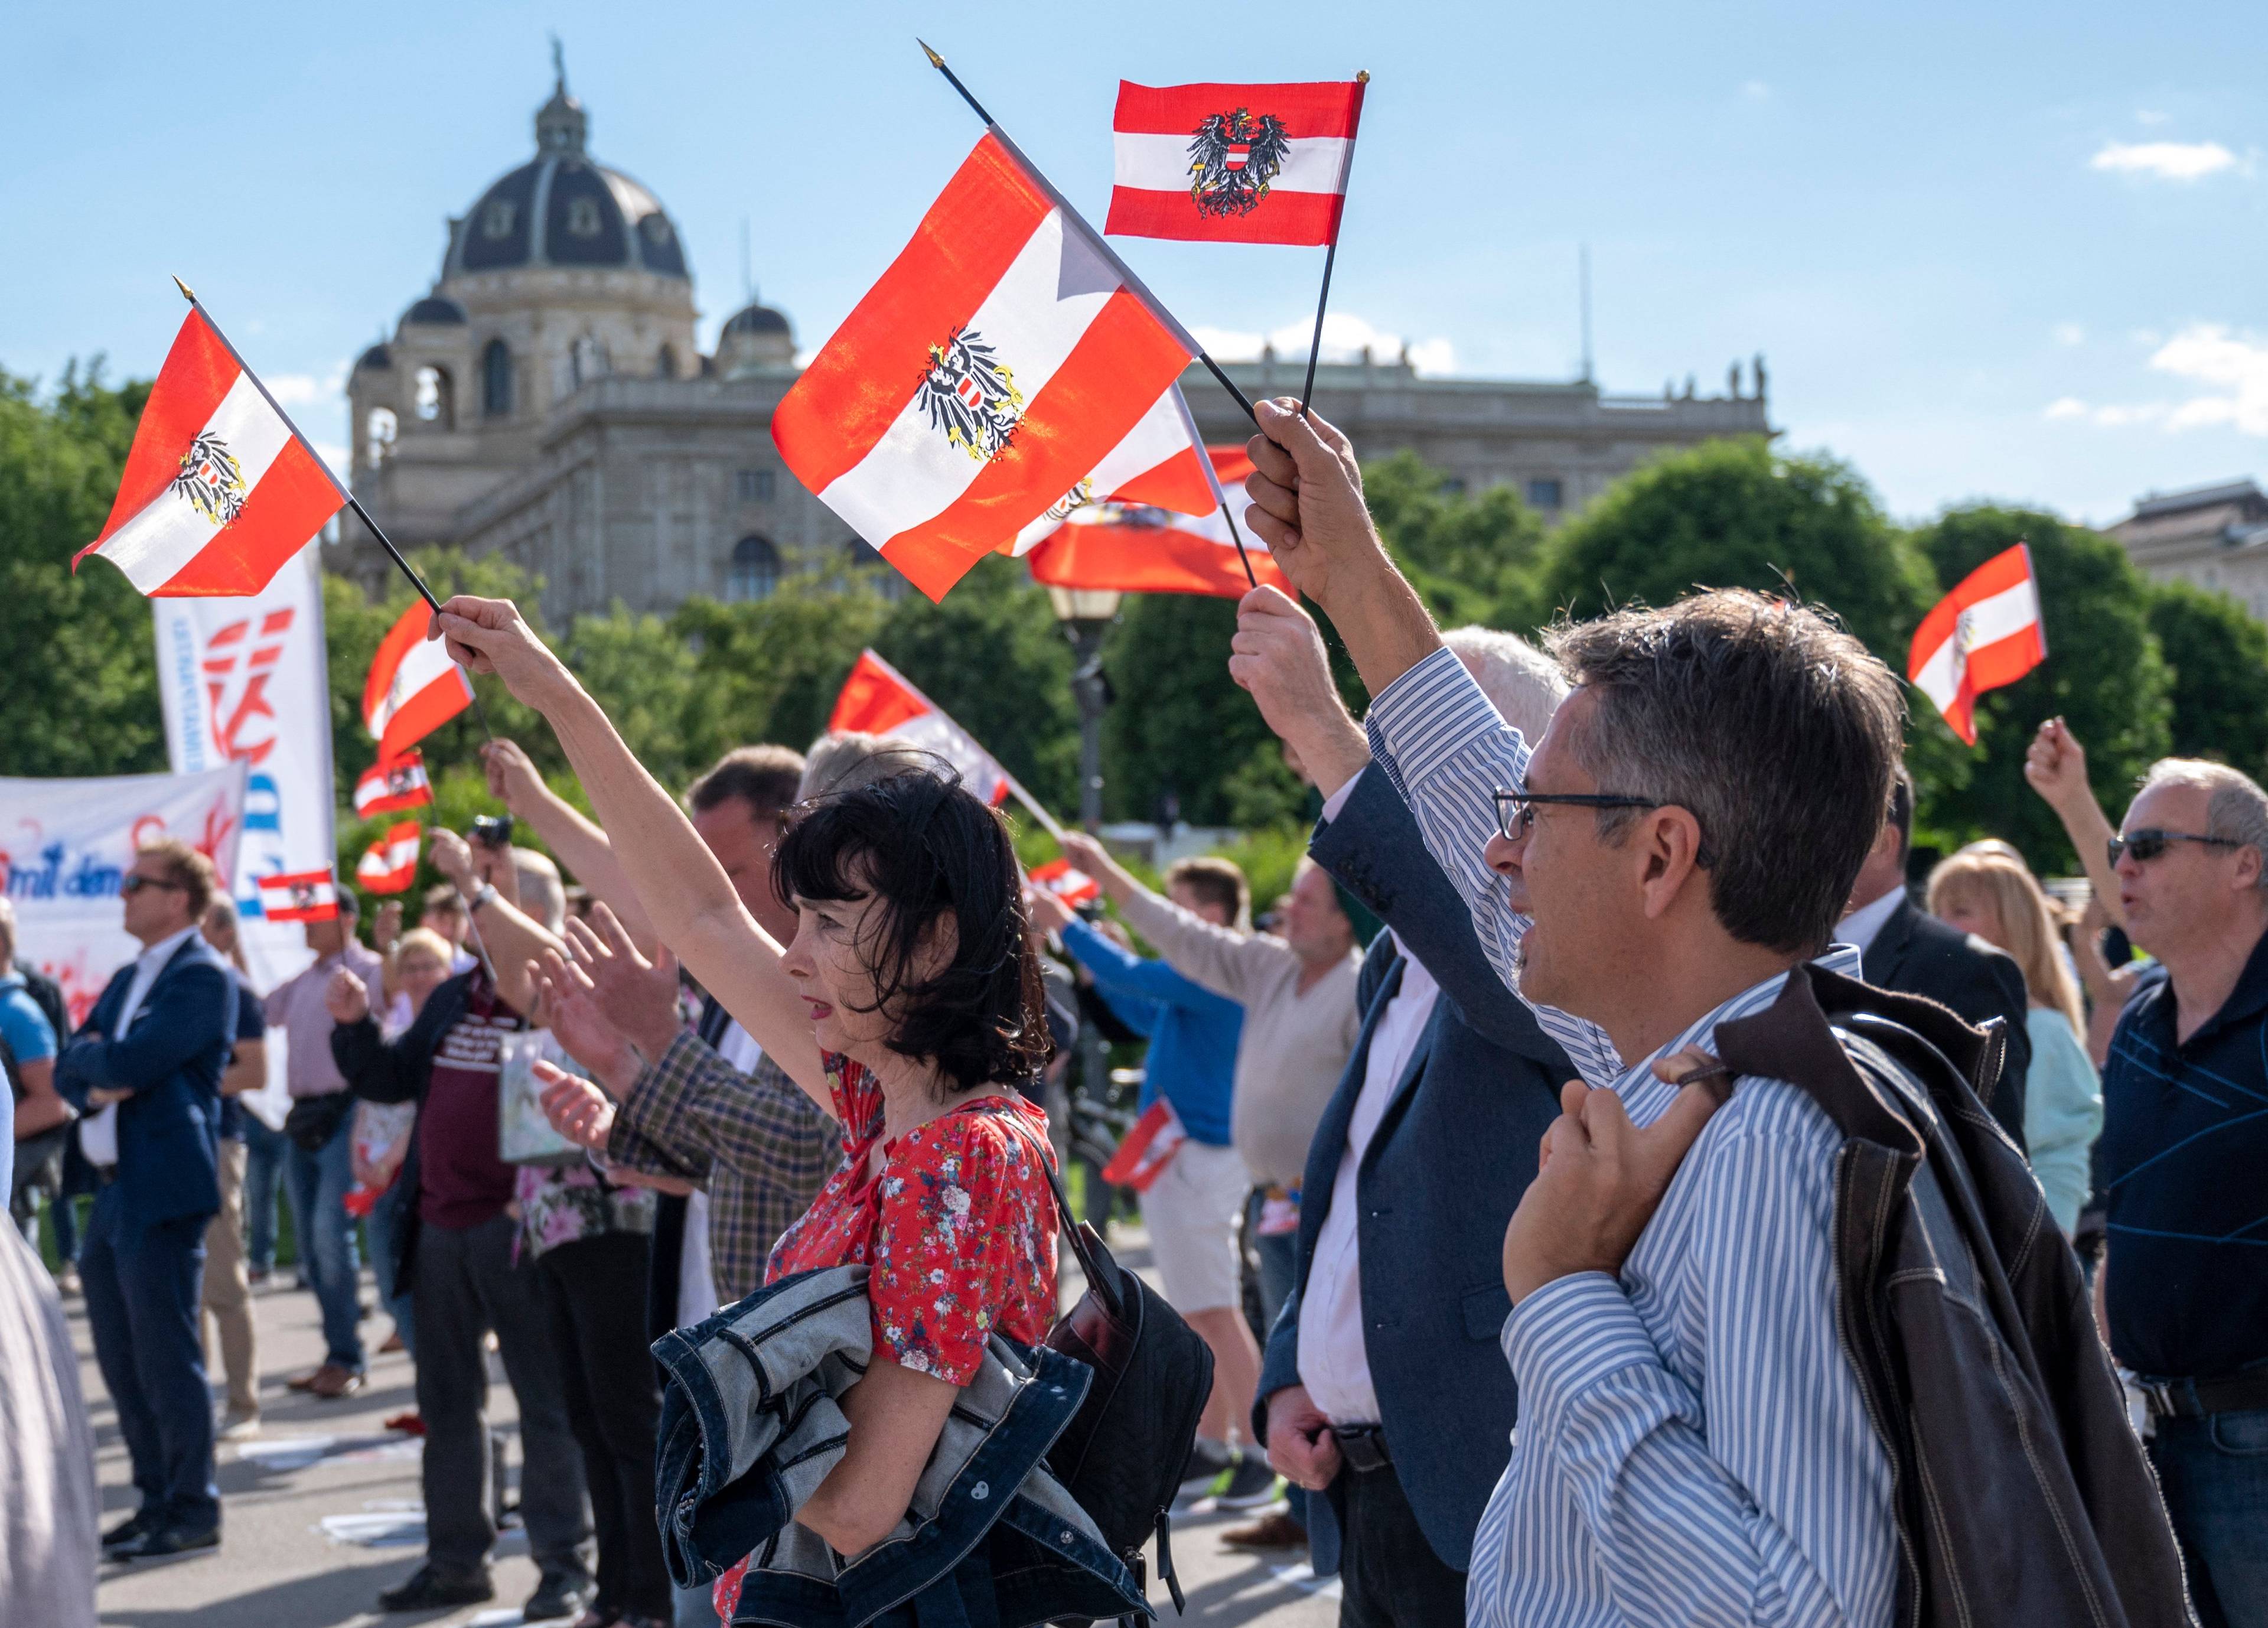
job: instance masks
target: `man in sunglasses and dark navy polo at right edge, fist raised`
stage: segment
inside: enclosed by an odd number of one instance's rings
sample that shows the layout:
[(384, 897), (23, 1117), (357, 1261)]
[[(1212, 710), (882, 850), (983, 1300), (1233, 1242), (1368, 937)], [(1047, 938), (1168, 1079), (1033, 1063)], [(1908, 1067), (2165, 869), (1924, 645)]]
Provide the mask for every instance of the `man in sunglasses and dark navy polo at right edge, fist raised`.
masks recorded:
[(2164, 977), (2102, 1068), (2096, 1313), (2148, 1399), (2204, 1628), (2268, 1623), (2268, 794), (2227, 764), (2152, 764), (2114, 834), (2048, 719), (2025, 778), (2096, 898)]

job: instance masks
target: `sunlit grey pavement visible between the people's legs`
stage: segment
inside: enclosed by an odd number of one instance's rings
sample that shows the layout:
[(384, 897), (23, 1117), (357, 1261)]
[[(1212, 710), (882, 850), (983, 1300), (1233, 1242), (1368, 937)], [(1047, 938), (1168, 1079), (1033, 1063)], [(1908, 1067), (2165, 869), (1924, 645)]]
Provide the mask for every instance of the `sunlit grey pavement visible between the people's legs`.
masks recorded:
[[(1139, 1233), (1114, 1236), (1114, 1247), (1120, 1261), (1136, 1267), (1148, 1254)], [(1075, 1286), (1066, 1290), (1075, 1292)], [(134, 1506), (125, 1447), (93, 1365), (86, 1317), (79, 1301), (66, 1306), (95, 1419), (104, 1515), (116, 1521)], [(259, 1440), (222, 1444), (227, 1526), (220, 1551), (104, 1567), (102, 1621), (116, 1628), (492, 1628), (522, 1621), (519, 1601), (535, 1587), (535, 1567), (517, 1533), (506, 1537), (497, 1558), (494, 1605), (420, 1617), (383, 1617), (376, 1610), (376, 1592), (408, 1576), (424, 1549), (417, 1444), (383, 1428), (386, 1417), (413, 1406), (408, 1358), (374, 1358), (370, 1385), (349, 1401), (311, 1401), (288, 1392), (284, 1381), (322, 1356), (315, 1299), (299, 1290), (261, 1292), (259, 1322), (265, 1428)], [(365, 1324), (372, 1345), (386, 1338), (386, 1326), (383, 1315)], [(513, 1392), (501, 1372), (492, 1397), (497, 1419), (510, 1428)], [(513, 1465), (517, 1474), (517, 1442)], [(1202, 1503), (1177, 1512), (1173, 1551), (1188, 1592), (1188, 1621), (1261, 1628), (1336, 1623), (1338, 1585), (1318, 1585), (1304, 1555), (1263, 1560), (1220, 1544), (1218, 1533), (1241, 1519)], [(1170, 1601), (1161, 1599), (1161, 1612), (1170, 1623)]]

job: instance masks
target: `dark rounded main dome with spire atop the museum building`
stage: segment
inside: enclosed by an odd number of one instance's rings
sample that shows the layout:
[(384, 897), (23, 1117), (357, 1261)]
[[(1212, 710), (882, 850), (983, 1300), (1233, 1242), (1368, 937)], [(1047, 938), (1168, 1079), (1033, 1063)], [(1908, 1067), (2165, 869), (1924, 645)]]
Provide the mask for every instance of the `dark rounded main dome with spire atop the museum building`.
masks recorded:
[(442, 277), (524, 268), (633, 270), (689, 279), (685, 245), (660, 200), (585, 150), (590, 120), (558, 75), (535, 111), (535, 156), (499, 177), (449, 222)]

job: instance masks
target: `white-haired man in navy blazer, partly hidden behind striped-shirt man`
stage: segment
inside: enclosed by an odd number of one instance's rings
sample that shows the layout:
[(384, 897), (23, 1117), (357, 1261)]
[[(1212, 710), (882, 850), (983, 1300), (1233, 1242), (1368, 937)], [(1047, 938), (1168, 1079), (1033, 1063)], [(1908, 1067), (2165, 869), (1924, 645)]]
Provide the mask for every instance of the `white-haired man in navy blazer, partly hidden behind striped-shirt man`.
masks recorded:
[[(1309, 853), (1393, 932), (1363, 964), (1363, 1034), (1315, 1129), (1300, 1263), (1261, 1365), (1270, 1456), (1311, 1496), (1340, 1623), (1465, 1621), (1465, 1569), (1510, 1456), (1504, 1229), (1574, 1063), (1497, 980), (1472, 911), (1372, 769), (1311, 621), (1238, 633), (1238, 682), (1325, 794)], [(1445, 639), (1497, 710), (1542, 732), (1565, 696), (1506, 633)]]

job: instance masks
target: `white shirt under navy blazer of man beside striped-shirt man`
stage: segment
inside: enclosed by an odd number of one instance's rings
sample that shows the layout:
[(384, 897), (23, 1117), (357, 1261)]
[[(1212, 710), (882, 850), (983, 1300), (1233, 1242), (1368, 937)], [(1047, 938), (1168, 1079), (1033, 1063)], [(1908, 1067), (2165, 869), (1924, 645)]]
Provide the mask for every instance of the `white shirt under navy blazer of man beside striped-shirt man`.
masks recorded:
[(1300, 1383), (1331, 1424), (1379, 1422), (1379, 1392), (1370, 1383), (1370, 1349), (1363, 1345), (1356, 1175), (1395, 1097), (1395, 1086), (1408, 1070), (1411, 1052), (1417, 1050), (1424, 1025), (1433, 1020), (1438, 993), (1440, 984), (1404, 948), (1402, 986), (1370, 1029), (1363, 1091), (1347, 1120), (1347, 1145), (1331, 1179), (1331, 1209), (1322, 1218), (1322, 1231), (1315, 1233), (1315, 1258), (1306, 1267), (1306, 1288), (1300, 1295)]

